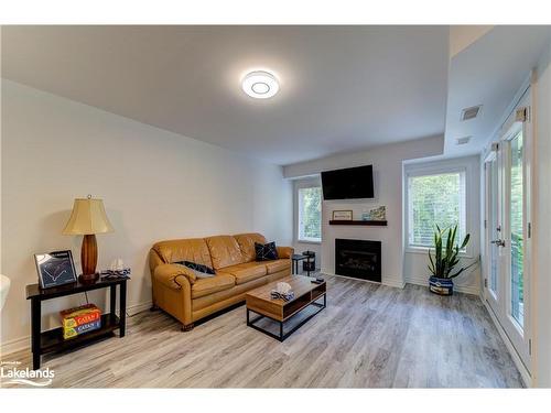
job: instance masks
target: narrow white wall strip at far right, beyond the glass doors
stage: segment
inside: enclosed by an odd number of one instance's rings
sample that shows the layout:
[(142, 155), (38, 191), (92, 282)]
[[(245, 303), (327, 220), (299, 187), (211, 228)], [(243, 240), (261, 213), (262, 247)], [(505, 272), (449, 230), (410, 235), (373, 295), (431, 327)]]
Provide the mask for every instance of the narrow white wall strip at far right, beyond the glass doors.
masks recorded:
[(533, 303), (534, 385), (551, 387), (551, 34), (534, 84)]

